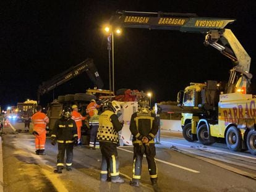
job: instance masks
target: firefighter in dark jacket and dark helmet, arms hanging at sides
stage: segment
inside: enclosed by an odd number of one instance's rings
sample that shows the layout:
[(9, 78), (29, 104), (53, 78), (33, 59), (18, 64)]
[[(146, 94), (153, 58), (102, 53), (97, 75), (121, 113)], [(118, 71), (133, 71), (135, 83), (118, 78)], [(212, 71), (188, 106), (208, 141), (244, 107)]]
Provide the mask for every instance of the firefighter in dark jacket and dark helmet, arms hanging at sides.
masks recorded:
[(66, 108), (62, 111), (61, 119), (57, 120), (51, 135), (51, 144), (55, 145), (58, 142), (58, 156), (57, 156), (57, 169), (54, 173), (62, 173), (64, 168), (64, 156), (65, 151), (67, 154), (66, 169), (72, 170), (73, 160), (73, 147), (74, 143), (78, 142), (77, 125), (75, 121), (71, 119), (72, 111), (70, 108)]

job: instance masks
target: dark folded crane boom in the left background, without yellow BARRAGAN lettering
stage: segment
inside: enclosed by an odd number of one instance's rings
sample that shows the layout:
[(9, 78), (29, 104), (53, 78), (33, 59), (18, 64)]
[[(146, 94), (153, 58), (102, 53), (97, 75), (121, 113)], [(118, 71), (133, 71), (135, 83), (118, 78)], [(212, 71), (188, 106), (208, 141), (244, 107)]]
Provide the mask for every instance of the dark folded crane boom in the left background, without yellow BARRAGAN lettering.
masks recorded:
[(93, 81), (94, 85), (97, 88), (103, 88), (103, 81), (100, 78), (98, 70), (93, 64), (93, 59), (86, 59), (80, 64), (54, 76), (51, 80), (43, 82), (42, 85), (40, 85), (38, 88), (38, 101), (40, 95), (53, 90), (57, 86), (66, 83), (67, 81), (71, 80), (74, 77), (77, 77), (77, 75), (80, 75), (83, 72), (87, 73), (88, 77), (90, 78), (90, 80)]

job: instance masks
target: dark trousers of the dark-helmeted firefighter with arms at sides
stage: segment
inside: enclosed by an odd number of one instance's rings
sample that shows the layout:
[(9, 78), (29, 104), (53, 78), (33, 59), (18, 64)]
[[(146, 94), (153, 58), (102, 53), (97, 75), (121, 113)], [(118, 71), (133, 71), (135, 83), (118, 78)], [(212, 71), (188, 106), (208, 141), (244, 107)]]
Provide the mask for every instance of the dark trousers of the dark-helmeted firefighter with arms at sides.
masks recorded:
[(57, 167), (64, 167), (64, 156), (66, 151), (66, 166), (72, 165), (74, 143), (58, 143), (59, 153), (57, 156)]

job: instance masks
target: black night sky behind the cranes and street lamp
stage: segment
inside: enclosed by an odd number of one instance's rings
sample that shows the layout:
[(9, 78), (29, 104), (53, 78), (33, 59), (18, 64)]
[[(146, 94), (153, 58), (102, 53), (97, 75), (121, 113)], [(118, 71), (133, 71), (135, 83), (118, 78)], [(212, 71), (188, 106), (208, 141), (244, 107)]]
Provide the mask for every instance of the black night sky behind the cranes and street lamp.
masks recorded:
[[(195, 13), (200, 17), (234, 18), (229, 25), (255, 66), (256, 1), (6, 1), (1, 2), (0, 105), (36, 99), (38, 86), (54, 75), (94, 59), (108, 89), (108, 51), (103, 23), (116, 10)], [(153, 101), (175, 101), (189, 82), (227, 81), (233, 64), (204, 36), (169, 30), (126, 28), (114, 40), (115, 90), (153, 92)], [(84, 73), (54, 91), (55, 97), (92, 88)], [(256, 92), (256, 80), (252, 80)], [(43, 104), (53, 91), (41, 96)]]

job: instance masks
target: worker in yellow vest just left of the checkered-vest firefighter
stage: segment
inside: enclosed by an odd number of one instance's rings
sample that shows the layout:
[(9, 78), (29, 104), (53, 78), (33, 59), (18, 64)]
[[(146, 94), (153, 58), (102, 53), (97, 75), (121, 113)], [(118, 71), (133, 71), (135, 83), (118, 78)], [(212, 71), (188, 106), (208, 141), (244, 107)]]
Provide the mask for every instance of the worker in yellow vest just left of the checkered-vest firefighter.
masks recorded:
[(99, 115), (98, 115), (98, 110), (94, 109), (94, 115), (90, 117), (89, 120), (89, 125), (90, 125), (90, 149), (99, 149), (100, 148), (100, 143), (97, 140), (97, 131), (99, 127)]

